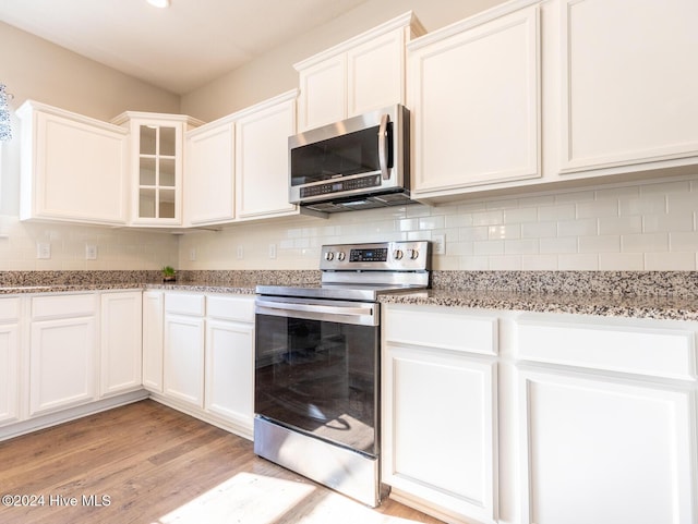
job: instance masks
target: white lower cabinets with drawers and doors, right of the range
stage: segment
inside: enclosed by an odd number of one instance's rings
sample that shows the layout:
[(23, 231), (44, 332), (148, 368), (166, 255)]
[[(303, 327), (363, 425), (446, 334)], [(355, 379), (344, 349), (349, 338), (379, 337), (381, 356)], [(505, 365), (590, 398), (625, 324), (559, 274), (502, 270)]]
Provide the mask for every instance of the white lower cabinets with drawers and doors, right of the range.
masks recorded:
[(697, 522), (698, 322), (382, 307), (392, 498), (449, 523)]

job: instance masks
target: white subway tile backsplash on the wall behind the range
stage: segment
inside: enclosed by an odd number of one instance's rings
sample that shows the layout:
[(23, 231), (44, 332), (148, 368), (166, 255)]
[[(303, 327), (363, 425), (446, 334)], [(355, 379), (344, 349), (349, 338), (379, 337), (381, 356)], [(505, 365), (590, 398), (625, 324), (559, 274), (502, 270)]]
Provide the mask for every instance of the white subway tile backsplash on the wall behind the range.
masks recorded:
[(180, 240), (179, 267), (316, 269), (323, 244), (445, 234), (446, 255), (434, 256), (435, 269), (696, 270), (697, 221), (698, 174), (188, 234)]

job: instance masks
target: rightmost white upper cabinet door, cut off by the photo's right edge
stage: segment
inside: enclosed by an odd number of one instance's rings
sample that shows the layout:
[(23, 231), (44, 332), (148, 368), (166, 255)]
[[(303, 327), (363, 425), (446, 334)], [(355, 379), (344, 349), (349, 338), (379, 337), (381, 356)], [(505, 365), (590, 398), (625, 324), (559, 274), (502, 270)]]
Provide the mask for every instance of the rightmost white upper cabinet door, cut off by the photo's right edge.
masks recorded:
[(559, 17), (561, 171), (695, 163), (698, 2), (562, 0)]

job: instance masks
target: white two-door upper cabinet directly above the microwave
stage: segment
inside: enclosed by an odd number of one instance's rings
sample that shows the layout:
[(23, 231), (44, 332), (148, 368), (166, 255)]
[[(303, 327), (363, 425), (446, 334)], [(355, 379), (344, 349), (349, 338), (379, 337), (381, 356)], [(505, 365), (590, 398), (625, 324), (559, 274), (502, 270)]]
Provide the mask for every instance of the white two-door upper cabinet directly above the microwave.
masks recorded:
[(300, 131), (405, 102), (405, 45), (424, 34), (411, 12), (294, 65)]

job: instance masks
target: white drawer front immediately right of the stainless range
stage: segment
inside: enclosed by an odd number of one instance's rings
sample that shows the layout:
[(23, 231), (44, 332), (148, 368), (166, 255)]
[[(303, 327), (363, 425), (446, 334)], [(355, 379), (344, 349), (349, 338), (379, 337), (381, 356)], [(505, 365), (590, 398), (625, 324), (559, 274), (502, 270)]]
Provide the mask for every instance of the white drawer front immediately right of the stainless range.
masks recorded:
[(384, 330), (388, 342), (428, 345), (445, 350), (495, 355), (497, 319), (455, 307), (385, 308)]

